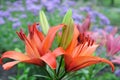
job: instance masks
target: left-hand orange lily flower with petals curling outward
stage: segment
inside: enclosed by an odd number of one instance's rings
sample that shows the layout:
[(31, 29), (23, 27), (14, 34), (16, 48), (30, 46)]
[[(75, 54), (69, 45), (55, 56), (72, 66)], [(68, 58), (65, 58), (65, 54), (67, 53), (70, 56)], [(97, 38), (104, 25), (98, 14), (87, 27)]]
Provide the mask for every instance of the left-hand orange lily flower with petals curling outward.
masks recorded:
[(36, 24), (29, 26), (29, 34), (27, 37), (22, 30), (17, 32), (20, 39), (25, 43), (26, 52), (25, 54), (16, 51), (7, 51), (3, 53), (1, 60), (4, 58), (15, 60), (3, 64), (3, 68), (8, 70), (19, 62), (25, 62), (39, 66), (47, 63), (52, 69), (55, 69), (56, 57), (62, 55), (64, 50), (59, 47), (54, 51), (50, 51), (49, 48), (52, 45), (56, 32), (62, 27), (63, 25), (51, 27), (46, 37), (42, 34), (42, 32), (37, 30)]

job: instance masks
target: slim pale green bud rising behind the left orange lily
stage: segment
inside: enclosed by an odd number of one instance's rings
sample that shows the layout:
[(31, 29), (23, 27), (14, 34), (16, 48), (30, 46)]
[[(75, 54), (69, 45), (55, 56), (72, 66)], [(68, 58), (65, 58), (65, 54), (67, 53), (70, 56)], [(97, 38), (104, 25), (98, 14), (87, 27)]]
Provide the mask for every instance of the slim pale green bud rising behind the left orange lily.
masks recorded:
[(49, 30), (49, 24), (43, 11), (40, 11), (40, 25), (42, 27), (43, 33), (46, 35)]

